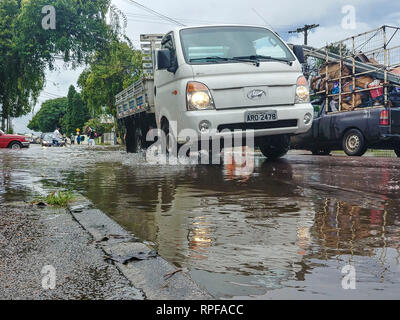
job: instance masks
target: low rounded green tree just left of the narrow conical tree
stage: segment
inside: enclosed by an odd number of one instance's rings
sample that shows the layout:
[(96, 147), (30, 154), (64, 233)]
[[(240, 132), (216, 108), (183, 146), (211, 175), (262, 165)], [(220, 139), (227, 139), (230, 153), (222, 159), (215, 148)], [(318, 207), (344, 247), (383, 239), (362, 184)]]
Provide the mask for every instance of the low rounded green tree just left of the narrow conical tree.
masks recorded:
[(29, 122), (28, 128), (33, 131), (53, 132), (60, 127), (65, 132), (64, 115), (68, 109), (68, 98), (47, 100), (42, 104), (39, 112)]

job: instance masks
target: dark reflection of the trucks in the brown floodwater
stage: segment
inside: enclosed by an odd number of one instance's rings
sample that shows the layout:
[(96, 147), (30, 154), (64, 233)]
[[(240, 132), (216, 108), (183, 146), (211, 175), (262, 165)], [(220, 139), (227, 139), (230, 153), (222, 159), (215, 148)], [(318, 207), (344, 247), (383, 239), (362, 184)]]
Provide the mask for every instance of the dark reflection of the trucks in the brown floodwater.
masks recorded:
[(169, 261), (190, 268), (206, 287), (218, 283), (215, 294), (229, 297), (306, 281), (316, 266), (338, 256), (375, 257), (382, 249), (384, 257), (387, 247), (399, 250), (397, 204), (386, 196), (360, 199), (347, 188), (313, 188), (316, 179), (335, 186), (324, 169), (313, 170), (310, 181), (307, 171), (285, 160), (256, 159), (245, 178), (232, 178), (224, 165), (128, 174), (126, 168), (97, 166), (80, 180), (101, 209)]

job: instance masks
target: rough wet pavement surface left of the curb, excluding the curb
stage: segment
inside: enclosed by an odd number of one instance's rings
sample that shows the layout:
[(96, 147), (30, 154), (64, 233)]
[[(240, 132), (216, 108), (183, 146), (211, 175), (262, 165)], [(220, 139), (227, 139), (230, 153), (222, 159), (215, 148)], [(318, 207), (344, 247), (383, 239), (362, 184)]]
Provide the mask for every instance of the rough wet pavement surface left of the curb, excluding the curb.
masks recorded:
[[(44, 266), (56, 270), (44, 289)], [(49, 274), (47, 274), (49, 275)], [(0, 299), (143, 299), (64, 209), (0, 204)]]

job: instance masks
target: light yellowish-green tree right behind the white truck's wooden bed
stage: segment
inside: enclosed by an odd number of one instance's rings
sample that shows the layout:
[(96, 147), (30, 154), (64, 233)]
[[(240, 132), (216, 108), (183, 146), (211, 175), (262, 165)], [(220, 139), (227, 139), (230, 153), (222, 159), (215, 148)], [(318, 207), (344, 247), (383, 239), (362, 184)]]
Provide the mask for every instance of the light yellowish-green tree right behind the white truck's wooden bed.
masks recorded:
[(127, 42), (113, 41), (98, 51), (79, 77), (83, 100), (91, 114), (116, 115), (115, 95), (141, 76), (142, 55)]

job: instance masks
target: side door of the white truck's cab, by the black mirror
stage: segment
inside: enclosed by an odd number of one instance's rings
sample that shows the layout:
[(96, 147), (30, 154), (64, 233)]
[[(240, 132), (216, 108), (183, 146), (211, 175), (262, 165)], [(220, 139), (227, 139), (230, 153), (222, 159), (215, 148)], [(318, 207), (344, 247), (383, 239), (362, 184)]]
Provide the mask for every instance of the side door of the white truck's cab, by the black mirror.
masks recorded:
[[(171, 108), (176, 108), (176, 96), (173, 92), (177, 90), (175, 82), (175, 72), (178, 69), (176, 47), (173, 33), (167, 34), (161, 42), (161, 49), (168, 49), (171, 55), (171, 68), (168, 70), (156, 70), (154, 77), (155, 84), (155, 105), (157, 119), (166, 116), (168, 121), (176, 121), (176, 112), (171, 112)], [(160, 114), (161, 113), (161, 114)]]

